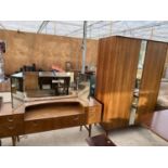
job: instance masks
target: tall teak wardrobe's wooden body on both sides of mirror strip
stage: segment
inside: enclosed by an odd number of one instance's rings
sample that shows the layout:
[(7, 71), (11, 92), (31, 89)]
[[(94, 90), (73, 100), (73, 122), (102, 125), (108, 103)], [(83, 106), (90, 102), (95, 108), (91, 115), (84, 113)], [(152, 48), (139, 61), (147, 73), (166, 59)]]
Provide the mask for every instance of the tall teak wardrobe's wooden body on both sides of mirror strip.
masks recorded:
[[(129, 125), (142, 41), (120, 36), (99, 41), (95, 98), (103, 104), (105, 130)], [(166, 52), (167, 43), (146, 41), (137, 122), (155, 108)]]

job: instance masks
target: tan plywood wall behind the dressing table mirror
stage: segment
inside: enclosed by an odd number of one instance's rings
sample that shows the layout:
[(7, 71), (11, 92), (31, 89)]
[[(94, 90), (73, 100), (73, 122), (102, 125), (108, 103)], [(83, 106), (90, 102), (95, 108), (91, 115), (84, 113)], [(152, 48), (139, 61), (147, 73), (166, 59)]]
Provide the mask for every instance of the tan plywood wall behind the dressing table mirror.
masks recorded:
[[(73, 62), (74, 68), (81, 66), (81, 39), (0, 30), (0, 39), (7, 42), (4, 54), (5, 74), (12, 74), (20, 67), (36, 63), (44, 70), (51, 69), (52, 64), (65, 67), (65, 62)], [(87, 41), (86, 65), (95, 66), (98, 41)]]

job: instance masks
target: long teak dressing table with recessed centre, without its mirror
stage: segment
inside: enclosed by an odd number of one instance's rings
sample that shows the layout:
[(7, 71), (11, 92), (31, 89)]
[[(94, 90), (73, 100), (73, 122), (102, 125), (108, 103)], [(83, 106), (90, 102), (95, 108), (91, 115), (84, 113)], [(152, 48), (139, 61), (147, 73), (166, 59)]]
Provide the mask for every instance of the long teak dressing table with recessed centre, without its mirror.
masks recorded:
[[(92, 124), (101, 122), (102, 105), (94, 99), (79, 98), (25, 102), (13, 109), (11, 103), (0, 108), (0, 139), (61, 128), (86, 126), (91, 135)], [(87, 127), (89, 125), (89, 127)]]

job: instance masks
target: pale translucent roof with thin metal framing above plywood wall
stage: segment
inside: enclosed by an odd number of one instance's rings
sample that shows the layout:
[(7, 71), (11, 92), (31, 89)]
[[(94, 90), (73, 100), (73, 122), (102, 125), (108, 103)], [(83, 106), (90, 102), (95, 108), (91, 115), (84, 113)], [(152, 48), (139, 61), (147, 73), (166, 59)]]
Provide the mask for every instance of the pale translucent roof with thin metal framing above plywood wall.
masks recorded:
[[(28, 23), (29, 22), (29, 23)], [(14, 21), (0, 21), (0, 28), (1, 29), (9, 29), (12, 28), (13, 30), (20, 29), (21, 31), (25, 31), (25, 29), (29, 29), (34, 31), (35, 27), (33, 26), (36, 21), (23, 21), (16, 22)], [(39, 21), (38, 21), (39, 23)], [(50, 24), (49, 24), (50, 23)], [(18, 27), (17, 27), (18, 24)], [(37, 23), (36, 23), (37, 24)], [(52, 25), (53, 24), (53, 25)], [(54, 26), (56, 24), (56, 28)], [(135, 26), (134, 26), (135, 25)], [(91, 39), (99, 39), (108, 36), (121, 35), (121, 36), (129, 36), (129, 37), (139, 37), (139, 38), (146, 38), (146, 39), (156, 39), (160, 41), (168, 41), (168, 22), (167, 21), (88, 21), (87, 38)], [(26, 27), (27, 26), (27, 27)], [(167, 27), (166, 27), (167, 26)], [(76, 37), (82, 38), (82, 22), (73, 22), (73, 21), (41, 21), (40, 25), (35, 33), (40, 34), (44, 33), (50, 35), (57, 35), (57, 36), (67, 36), (67, 37)], [(52, 31), (53, 29), (53, 31)]]

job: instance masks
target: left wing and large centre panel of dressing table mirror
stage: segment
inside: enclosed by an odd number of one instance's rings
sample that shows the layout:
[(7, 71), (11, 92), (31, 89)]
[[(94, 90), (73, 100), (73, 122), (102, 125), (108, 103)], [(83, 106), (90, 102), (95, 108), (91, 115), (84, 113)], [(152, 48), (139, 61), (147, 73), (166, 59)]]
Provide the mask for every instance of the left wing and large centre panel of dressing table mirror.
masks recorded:
[[(77, 87), (73, 72), (24, 72), (11, 76), (12, 104), (20, 100), (76, 98)], [(15, 103), (17, 102), (17, 103)]]

